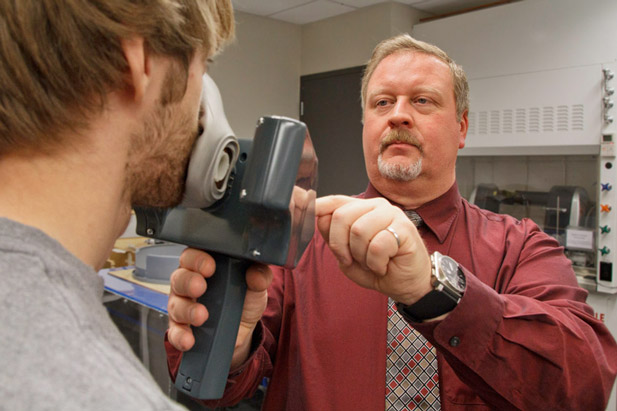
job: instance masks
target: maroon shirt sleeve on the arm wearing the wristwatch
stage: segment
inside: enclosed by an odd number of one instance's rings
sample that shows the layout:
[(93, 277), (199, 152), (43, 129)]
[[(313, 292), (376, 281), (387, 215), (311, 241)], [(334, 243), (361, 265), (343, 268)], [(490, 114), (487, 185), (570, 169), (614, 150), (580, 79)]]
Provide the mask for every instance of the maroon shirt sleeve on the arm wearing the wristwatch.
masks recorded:
[(446, 360), (442, 392), (460, 397), (446, 380), (451, 369), (497, 409), (604, 409), (617, 372), (615, 340), (585, 303), (557, 242), (534, 224), (518, 230), (504, 237), (490, 275), (463, 267), (464, 296), (445, 319), (412, 324)]

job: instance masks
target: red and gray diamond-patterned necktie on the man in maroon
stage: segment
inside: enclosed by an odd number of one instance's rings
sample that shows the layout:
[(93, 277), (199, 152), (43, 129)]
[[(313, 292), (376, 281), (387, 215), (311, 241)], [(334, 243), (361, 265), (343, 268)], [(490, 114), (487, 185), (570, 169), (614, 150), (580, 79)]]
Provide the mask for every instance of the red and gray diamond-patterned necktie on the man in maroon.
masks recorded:
[[(405, 214), (416, 227), (422, 224), (415, 211)], [(386, 359), (386, 411), (441, 409), (435, 348), (401, 317), (392, 299)]]

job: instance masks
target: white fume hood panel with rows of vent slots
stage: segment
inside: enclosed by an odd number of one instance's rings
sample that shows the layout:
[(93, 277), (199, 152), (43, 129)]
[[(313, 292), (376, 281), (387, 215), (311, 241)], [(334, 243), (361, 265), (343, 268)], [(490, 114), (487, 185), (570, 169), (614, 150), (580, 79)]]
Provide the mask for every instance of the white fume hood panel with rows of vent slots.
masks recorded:
[(460, 155), (598, 154), (600, 65), (471, 80)]

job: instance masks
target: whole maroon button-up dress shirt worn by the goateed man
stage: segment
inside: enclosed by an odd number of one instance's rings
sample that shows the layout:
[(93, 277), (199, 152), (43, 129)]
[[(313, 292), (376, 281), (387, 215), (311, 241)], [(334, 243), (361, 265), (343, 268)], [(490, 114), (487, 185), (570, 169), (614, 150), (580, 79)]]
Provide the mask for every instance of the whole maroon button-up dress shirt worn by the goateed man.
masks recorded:
[[(467, 281), (448, 317), (412, 324), (437, 348), (442, 409), (603, 410), (617, 345), (559, 244), (531, 220), (469, 204), (456, 184), (416, 211), (429, 252)], [(237, 403), (266, 376), (264, 410), (383, 410), (387, 301), (347, 279), (317, 232), (296, 269), (274, 268), (252, 354), (206, 404)], [(175, 375), (181, 354), (166, 345)]]

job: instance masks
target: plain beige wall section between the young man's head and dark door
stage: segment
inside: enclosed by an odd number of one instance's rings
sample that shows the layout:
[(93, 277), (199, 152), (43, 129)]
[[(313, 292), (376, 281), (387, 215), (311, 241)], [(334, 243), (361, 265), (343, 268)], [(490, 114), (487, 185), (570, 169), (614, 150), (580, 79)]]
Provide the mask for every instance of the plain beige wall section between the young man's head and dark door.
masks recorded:
[(210, 65), (239, 138), (263, 115), (298, 118), (301, 26), (236, 12), (236, 41)]

